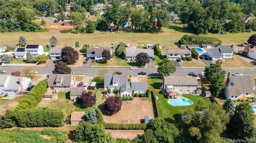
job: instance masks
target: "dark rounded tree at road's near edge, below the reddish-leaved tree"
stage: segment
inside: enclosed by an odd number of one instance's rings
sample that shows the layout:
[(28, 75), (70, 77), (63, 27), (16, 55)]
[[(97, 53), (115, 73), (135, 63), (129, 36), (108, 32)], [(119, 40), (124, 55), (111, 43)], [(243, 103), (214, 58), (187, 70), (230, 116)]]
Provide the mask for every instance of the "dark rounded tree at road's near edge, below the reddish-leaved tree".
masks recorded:
[(71, 69), (68, 65), (62, 61), (57, 62), (54, 65), (54, 70), (52, 71), (53, 74), (70, 74)]

